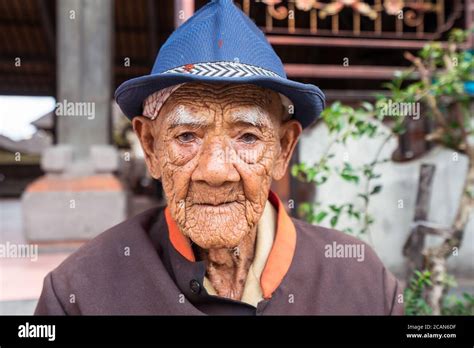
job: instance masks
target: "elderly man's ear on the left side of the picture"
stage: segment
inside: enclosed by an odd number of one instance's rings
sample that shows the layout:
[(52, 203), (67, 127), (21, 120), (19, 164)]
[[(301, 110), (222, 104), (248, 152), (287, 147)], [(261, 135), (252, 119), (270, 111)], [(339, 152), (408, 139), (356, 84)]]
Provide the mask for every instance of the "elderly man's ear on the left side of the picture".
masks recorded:
[(153, 120), (144, 116), (136, 116), (132, 120), (133, 130), (138, 136), (145, 154), (145, 161), (150, 175), (154, 179), (161, 177), (157, 154), (155, 153), (155, 130)]

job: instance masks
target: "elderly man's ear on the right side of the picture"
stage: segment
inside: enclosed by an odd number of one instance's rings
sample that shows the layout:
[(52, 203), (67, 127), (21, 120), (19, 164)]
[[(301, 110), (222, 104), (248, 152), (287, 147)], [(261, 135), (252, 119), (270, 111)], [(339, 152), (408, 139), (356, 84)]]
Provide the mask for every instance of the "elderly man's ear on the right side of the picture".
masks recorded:
[(273, 167), (273, 179), (280, 180), (286, 173), (291, 156), (303, 128), (296, 120), (283, 122), (280, 126), (280, 153)]

